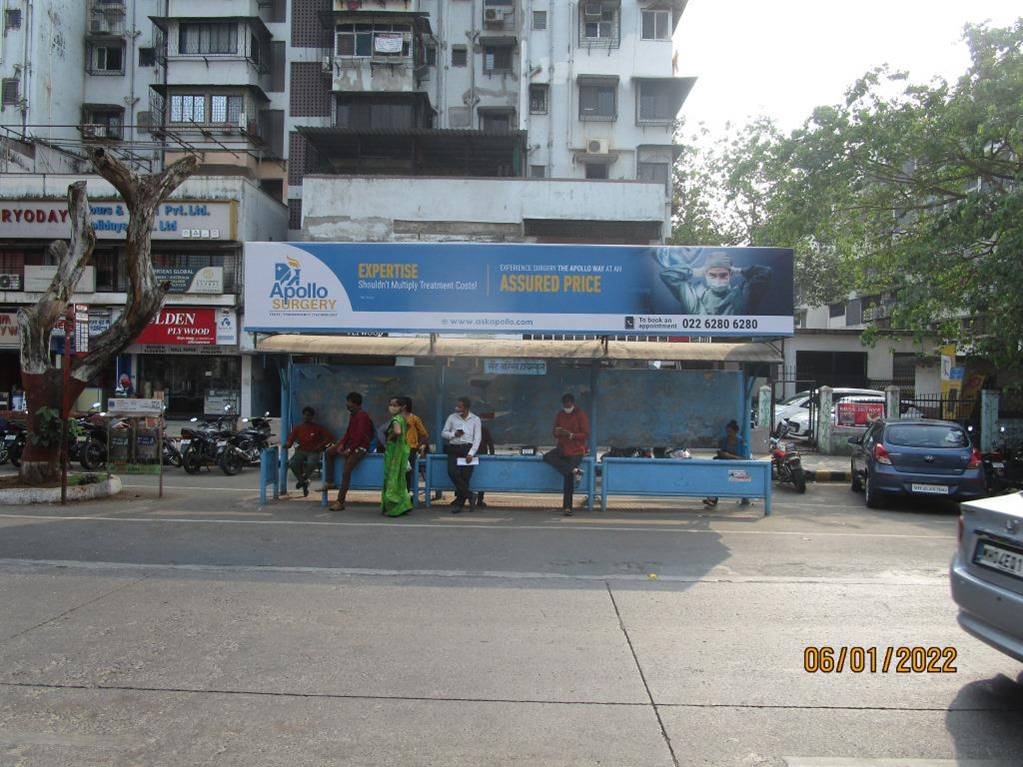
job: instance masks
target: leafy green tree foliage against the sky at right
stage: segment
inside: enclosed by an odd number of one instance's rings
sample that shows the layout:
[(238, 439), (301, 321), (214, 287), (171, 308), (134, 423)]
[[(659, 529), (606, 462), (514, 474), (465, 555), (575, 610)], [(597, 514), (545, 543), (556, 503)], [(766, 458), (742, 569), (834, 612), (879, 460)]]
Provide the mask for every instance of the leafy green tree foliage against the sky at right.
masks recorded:
[(964, 39), (954, 83), (880, 67), (788, 136), (686, 145), (675, 241), (792, 246), (800, 302), (892, 294), (893, 325), (1023, 365), (1023, 19)]

